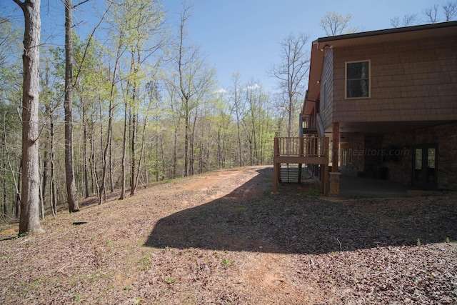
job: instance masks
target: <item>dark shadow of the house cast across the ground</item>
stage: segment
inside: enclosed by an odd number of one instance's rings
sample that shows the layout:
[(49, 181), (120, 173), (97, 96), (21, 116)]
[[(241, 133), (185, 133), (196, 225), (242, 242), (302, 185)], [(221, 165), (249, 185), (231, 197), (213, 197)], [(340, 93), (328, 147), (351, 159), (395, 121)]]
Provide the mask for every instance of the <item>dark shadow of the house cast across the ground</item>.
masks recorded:
[[(323, 254), (457, 240), (456, 194), (332, 200), (283, 184), (273, 195), (271, 169), (258, 173), (221, 199), (160, 219), (145, 246)], [(234, 200), (262, 186), (259, 196)]]

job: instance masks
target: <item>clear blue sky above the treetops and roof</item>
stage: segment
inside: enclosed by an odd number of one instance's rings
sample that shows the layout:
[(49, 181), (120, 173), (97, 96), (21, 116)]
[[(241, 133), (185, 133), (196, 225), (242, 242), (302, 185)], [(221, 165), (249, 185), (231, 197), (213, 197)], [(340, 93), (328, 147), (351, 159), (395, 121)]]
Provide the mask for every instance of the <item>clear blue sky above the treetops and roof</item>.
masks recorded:
[[(81, 0), (82, 1), (82, 0)], [(73, 0), (74, 4), (81, 1)], [(91, 0), (81, 6), (84, 11), (75, 22), (87, 16), (87, 10), (99, 3)], [(273, 91), (276, 80), (266, 70), (281, 61), (279, 42), (288, 34), (303, 32), (311, 41), (326, 36), (318, 21), (326, 11), (345, 15), (353, 14), (351, 26), (363, 31), (391, 28), (391, 18), (405, 14), (418, 14), (441, 5), (447, 0), (187, 0), (194, 4), (193, 17), (188, 31), (191, 41), (201, 46), (209, 64), (216, 67), (220, 88), (231, 86), (231, 75), (238, 71), (243, 83), (260, 81), (267, 91)], [(12, 0), (0, 0), (0, 14), (17, 8)], [(181, 0), (163, 0), (170, 24), (176, 24), (182, 7)], [(16, 16), (21, 11), (16, 9)], [(41, 19), (47, 35), (64, 34), (64, 11), (61, 0), (41, 0)], [(18, 19), (23, 22), (21, 18)], [(18, 22), (19, 22), (18, 21)]]

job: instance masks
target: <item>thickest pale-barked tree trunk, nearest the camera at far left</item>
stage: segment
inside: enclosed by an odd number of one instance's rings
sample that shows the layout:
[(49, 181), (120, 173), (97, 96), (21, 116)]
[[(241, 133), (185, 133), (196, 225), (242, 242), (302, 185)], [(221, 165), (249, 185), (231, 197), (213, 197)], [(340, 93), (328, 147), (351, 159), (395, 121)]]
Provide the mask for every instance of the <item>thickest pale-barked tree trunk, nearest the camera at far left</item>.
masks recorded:
[(13, 0), (24, 12), (22, 91), (22, 189), (19, 234), (42, 233), (39, 220), (39, 45), (40, 0)]

